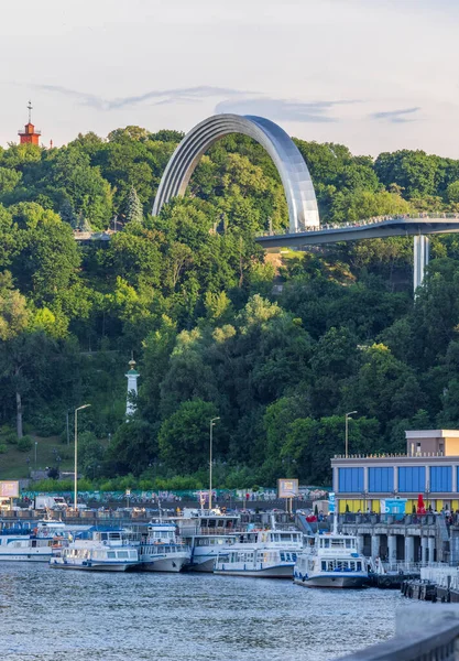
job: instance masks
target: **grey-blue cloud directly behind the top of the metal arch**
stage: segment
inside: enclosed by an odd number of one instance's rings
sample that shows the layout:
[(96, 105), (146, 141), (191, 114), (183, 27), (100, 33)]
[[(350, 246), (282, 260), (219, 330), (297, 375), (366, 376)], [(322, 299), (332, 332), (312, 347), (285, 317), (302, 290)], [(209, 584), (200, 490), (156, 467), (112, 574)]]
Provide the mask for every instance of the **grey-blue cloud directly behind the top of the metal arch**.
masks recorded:
[(277, 121), (331, 122), (338, 121), (328, 115), (336, 106), (358, 104), (358, 100), (341, 101), (294, 101), (267, 97), (234, 98), (220, 101), (216, 112), (234, 112), (237, 115), (261, 115)]

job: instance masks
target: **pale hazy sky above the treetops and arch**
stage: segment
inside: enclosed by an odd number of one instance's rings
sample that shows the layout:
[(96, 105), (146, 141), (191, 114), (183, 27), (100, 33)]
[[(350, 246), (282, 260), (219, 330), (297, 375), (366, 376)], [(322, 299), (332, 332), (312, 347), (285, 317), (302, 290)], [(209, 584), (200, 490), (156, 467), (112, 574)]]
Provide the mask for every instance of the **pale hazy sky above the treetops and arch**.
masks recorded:
[(0, 0), (0, 144), (259, 115), (459, 159), (459, 0)]

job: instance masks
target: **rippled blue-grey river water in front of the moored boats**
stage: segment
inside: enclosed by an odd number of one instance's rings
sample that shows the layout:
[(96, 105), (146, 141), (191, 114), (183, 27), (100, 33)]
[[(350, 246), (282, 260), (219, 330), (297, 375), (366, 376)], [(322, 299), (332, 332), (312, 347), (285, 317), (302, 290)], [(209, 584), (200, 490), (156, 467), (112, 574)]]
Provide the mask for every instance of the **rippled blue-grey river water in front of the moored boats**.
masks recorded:
[(393, 635), (398, 592), (0, 564), (2, 661), (326, 661)]

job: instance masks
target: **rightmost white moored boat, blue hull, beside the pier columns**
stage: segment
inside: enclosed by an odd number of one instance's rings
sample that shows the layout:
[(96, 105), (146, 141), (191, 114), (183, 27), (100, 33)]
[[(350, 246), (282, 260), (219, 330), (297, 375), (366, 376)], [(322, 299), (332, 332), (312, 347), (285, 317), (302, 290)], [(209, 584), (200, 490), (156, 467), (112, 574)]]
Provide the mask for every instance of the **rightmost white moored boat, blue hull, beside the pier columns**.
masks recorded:
[(364, 587), (368, 561), (358, 552), (357, 538), (338, 532), (306, 538), (294, 582), (305, 587)]

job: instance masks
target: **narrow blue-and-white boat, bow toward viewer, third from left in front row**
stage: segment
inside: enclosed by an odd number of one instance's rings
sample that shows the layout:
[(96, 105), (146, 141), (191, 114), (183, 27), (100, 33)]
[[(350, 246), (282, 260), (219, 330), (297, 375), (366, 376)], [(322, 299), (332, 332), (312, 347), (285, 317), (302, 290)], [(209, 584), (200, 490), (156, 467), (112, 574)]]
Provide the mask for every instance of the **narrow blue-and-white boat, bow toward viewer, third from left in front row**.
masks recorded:
[(192, 550), (177, 540), (176, 525), (162, 521), (149, 524), (139, 546), (140, 567), (145, 572), (181, 572), (189, 563)]

